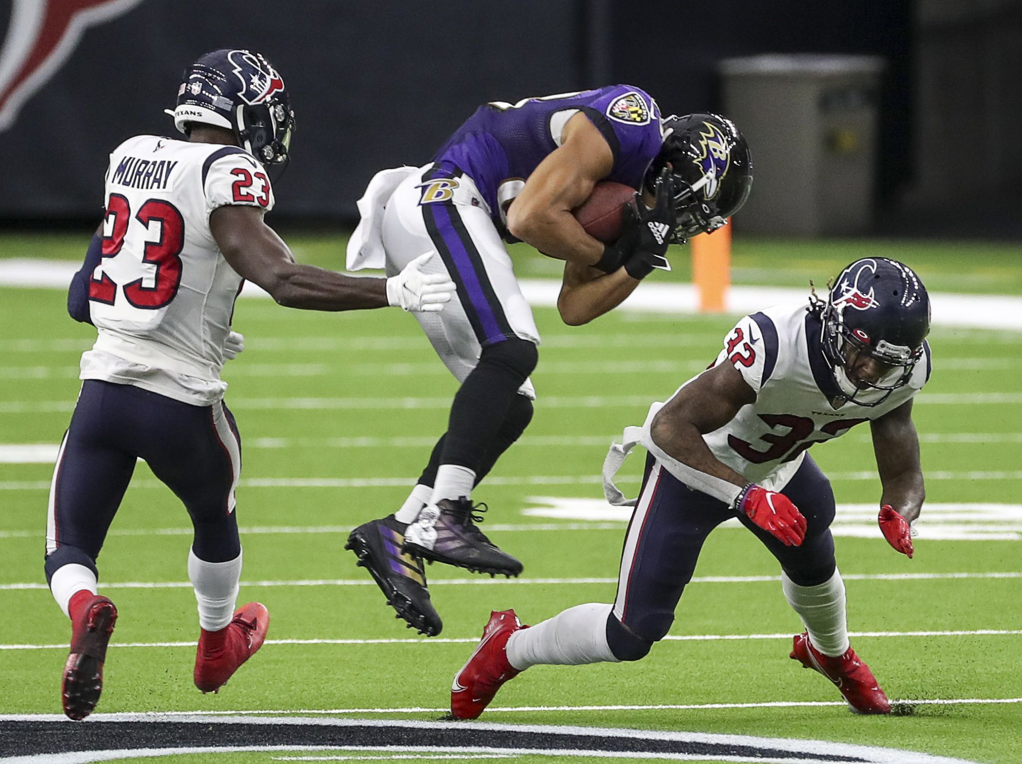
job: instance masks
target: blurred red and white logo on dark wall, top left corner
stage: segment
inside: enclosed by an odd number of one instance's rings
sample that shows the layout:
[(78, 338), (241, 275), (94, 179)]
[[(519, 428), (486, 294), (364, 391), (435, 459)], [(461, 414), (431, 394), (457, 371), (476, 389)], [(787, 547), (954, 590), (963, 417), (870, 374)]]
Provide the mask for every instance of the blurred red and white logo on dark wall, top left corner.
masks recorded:
[(63, 65), (82, 33), (127, 13), (142, 0), (12, 0), (0, 48), (0, 131)]

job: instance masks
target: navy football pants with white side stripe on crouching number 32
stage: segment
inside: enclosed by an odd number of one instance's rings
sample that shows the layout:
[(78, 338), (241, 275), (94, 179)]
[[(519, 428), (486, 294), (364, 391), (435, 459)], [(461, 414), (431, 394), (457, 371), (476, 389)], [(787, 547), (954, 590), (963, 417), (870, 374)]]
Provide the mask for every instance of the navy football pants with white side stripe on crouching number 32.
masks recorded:
[[(806, 453), (781, 492), (805, 517), (801, 546), (785, 546), (748, 518), (739, 519), (777, 558), (792, 581), (799, 586), (824, 583), (836, 568), (830, 532), (834, 520), (830, 481)], [(689, 488), (648, 457), (642, 491), (624, 539), (614, 618), (642, 640), (663, 638), (675, 620), (685, 585), (692, 579), (703, 541), (733, 517), (723, 502)], [(613, 632), (608, 628), (608, 636)]]

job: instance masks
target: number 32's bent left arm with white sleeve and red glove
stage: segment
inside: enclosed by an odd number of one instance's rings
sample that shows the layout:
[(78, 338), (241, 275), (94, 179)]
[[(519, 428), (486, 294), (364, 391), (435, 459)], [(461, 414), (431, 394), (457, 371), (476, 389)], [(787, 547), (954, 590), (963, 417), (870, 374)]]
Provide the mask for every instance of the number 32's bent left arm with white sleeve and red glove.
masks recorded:
[[(664, 403), (650, 425), (654, 456), (687, 485), (731, 505), (778, 540), (799, 546), (805, 518), (783, 493), (750, 483), (713, 456), (702, 436), (724, 427), (756, 394), (729, 363), (703, 372)], [(659, 452), (658, 452), (659, 451)]]

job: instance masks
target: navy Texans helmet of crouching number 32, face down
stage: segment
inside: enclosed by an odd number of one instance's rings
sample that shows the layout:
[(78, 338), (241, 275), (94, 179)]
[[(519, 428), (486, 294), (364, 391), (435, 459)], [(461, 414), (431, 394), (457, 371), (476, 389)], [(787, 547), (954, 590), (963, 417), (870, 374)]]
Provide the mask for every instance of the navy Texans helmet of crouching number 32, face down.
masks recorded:
[[(857, 259), (819, 307), (823, 352), (842, 398), (873, 407), (908, 384), (930, 333), (930, 297), (911, 268), (886, 257)], [(877, 379), (848, 376), (851, 356), (860, 353), (877, 362)]]

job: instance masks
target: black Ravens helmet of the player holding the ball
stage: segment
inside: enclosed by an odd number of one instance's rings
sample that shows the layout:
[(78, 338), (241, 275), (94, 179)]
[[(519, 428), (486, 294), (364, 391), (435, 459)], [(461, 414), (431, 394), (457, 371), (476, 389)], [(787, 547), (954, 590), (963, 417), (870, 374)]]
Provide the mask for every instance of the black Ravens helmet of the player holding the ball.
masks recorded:
[(731, 120), (716, 114), (670, 115), (660, 123), (663, 145), (646, 171), (654, 190), (665, 166), (675, 197), (671, 241), (715, 231), (742, 208), (752, 188), (749, 146)]

